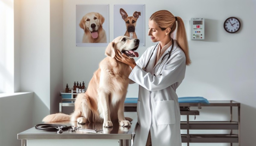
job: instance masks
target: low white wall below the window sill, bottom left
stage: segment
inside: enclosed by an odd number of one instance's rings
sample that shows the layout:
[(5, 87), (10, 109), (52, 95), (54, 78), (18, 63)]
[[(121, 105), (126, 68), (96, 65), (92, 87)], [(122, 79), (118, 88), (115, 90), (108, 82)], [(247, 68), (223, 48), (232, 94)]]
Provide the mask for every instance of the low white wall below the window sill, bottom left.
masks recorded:
[(33, 97), (33, 92), (0, 95), (1, 146), (21, 145), (17, 134), (32, 127)]

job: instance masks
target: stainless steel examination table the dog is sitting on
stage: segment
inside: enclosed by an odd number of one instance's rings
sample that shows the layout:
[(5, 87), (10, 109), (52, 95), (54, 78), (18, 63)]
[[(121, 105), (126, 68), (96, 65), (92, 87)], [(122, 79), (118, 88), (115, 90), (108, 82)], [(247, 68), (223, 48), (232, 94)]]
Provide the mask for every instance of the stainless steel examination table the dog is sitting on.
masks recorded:
[(113, 127), (102, 127), (102, 123), (77, 124), (77, 122), (56, 122), (51, 124), (62, 124), (67, 126), (81, 126), (83, 129), (102, 129), (102, 132), (92, 133), (65, 130), (62, 133), (56, 131), (43, 131), (30, 128), (18, 134), (18, 139), (22, 140), (22, 146), (70, 146), (70, 145), (93, 145), (93, 146), (131, 146), (135, 134), (137, 123), (136, 112), (125, 112), (126, 117), (131, 117), (131, 127), (119, 126), (118, 121), (112, 121)]

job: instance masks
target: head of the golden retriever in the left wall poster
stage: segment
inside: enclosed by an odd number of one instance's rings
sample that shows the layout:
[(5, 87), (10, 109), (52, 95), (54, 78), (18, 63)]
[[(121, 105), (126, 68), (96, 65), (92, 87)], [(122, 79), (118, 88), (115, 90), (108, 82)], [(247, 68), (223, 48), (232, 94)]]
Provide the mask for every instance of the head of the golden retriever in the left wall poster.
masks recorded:
[(96, 39), (98, 37), (98, 30), (102, 27), (104, 20), (105, 18), (101, 14), (90, 12), (84, 15), (79, 26), (84, 32), (89, 31), (92, 34), (92, 38)]

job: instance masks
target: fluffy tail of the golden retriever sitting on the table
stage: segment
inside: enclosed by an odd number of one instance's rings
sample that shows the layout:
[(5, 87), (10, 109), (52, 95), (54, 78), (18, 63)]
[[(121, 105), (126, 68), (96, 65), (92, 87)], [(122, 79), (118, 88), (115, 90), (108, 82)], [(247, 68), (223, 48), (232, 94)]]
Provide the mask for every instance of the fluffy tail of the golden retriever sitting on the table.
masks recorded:
[(64, 113), (55, 113), (48, 116), (42, 120), (42, 122), (60, 122), (70, 120), (70, 115)]

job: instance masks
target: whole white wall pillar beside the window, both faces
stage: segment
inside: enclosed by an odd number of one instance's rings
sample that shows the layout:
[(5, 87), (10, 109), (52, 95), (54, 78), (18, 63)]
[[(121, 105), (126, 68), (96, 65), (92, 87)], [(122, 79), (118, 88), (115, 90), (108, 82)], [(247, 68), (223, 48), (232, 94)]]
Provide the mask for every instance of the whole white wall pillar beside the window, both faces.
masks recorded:
[(33, 124), (59, 111), (63, 85), (62, 1), (20, 1), (20, 90), (33, 91)]

